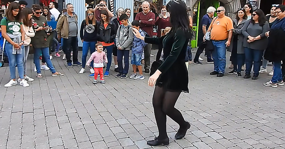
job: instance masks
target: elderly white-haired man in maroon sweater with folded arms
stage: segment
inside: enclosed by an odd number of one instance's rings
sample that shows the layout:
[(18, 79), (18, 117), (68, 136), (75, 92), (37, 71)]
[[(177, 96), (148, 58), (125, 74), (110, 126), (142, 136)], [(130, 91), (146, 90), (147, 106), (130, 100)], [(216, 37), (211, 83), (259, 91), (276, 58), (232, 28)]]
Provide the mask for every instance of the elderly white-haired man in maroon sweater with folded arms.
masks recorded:
[[(143, 11), (139, 12), (136, 15), (135, 20), (138, 20), (141, 23), (140, 28), (144, 30), (149, 37), (152, 37), (153, 33), (153, 25), (155, 23), (155, 15), (153, 12), (149, 10), (150, 4), (147, 1), (144, 1), (142, 4)], [(150, 68), (150, 52), (151, 52), (151, 44), (147, 44), (144, 47), (144, 72), (149, 73)]]

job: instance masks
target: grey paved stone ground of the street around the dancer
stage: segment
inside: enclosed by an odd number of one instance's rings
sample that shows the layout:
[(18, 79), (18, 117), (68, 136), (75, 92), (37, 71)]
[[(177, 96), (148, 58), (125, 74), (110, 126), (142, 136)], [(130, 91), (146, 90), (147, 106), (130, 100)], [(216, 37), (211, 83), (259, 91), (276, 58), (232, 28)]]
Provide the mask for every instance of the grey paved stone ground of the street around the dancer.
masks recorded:
[[(42, 71), (44, 77), (37, 79), (29, 56), (28, 75), (35, 81), (28, 88), (4, 88), (9, 68), (0, 68), (1, 149), (150, 148), (146, 140), (158, 129), (148, 79), (117, 79), (110, 71), (105, 85), (93, 85), (89, 73), (78, 74), (80, 67), (67, 68), (62, 58), (52, 62), (65, 75)], [(209, 75), (212, 70), (212, 64), (190, 65), (190, 94), (182, 93), (176, 104), (191, 123), (190, 131), (185, 139), (154, 148), (285, 148), (284, 87), (264, 87), (267, 74), (253, 81), (217, 78)], [(168, 118), (169, 137), (177, 130)]]

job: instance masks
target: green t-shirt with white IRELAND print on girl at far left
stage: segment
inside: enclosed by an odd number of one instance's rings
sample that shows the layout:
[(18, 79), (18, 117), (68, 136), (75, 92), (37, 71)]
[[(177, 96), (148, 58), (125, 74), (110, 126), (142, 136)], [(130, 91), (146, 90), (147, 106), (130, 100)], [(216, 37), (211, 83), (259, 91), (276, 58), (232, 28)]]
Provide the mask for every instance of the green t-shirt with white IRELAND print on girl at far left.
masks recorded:
[(21, 25), (22, 24), (23, 24), (22, 22), (6, 20), (6, 18), (3, 18), (1, 20), (1, 26), (2, 25), (7, 26), (7, 28), (6, 28), (7, 33), (10, 33), (12, 35), (21, 34)]

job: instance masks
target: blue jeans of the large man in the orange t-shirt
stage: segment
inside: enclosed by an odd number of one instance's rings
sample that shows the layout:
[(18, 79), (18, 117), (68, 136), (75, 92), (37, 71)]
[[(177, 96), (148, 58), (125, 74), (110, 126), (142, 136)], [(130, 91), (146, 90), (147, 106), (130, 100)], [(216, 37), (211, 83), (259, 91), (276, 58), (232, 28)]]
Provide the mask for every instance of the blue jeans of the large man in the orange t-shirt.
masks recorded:
[(226, 45), (227, 40), (224, 41), (212, 41), (214, 45), (214, 51), (212, 52), (212, 58), (214, 60), (214, 71), (219, 73), (225, 73), (226, 68)]

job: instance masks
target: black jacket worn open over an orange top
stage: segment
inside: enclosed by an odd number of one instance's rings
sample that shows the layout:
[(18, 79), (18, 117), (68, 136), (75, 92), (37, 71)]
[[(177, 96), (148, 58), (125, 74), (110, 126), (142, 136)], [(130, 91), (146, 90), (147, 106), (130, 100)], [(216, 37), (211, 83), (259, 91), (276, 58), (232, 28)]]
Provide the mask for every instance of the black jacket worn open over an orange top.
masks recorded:
[(97, 41), (112, 43), (116, 38), (117, 30), (114, 22), (110, 21), (107, 28), (105, 29), (104, 25), (101, 23), (98, 27)]

